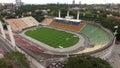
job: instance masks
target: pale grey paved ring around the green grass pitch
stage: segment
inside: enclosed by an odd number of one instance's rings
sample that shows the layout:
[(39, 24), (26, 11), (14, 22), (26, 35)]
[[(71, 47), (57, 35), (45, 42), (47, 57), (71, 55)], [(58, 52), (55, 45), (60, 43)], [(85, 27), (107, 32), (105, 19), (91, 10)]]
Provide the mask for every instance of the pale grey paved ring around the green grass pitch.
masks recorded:
[[(49, 27), (50, 28), (50, 27)], [(33, 29), (33, 28), (32, 28)], [(28, 29), (28, 30), (30, 30), (30, 29)], [(25, 30), (25, 31), (23, 31), (22, 33), (21, 33), (21, 36), (23, 36), (23, 37), (25, 37), (26, 39), (29, 39), (29, 40), (31, 40), (31, 41), (34, 41), (37, 45), (39, 45), (40, 47), (42, 47), (42, 48), (45, 48), (46, 50), (48, 50), (48, 51), (50, 51), (49, 53), (64, 53), (65, 55), (66, 54), (68, 54), (68, 52), (71, 52), (71, 51), (74, 51), (74, 50), (77, 50), (77, 49), (79, 49), (80, 47), (84, 47), (85, 46), (85, 44), (84, 44), (84, 41), (85, 41), (85, 39), (84, 39), (84, 37), (83, 36), (81, 36), (80, 34), (77, 34), (77, 33), (74, 33), (74, 32), (70, 32), (70, 31), (65, 31), (65, 32), (69, 32), (69, 33), (72, 33), (72, 34), (75, 34), (75, 35), (77, 35), (79, 38), (80, 38), (80, 40), (79, 40), (79, 42), (77, 43), (77, 44), (75, 44), (74, 46), (71, 46), (71, 47), (68, 47), (68, 48), (53, 48), (53, 47), (50, 47), (50, 46), (48, 46), (48, 45), (46, 45), (46, 44), (44, 44), (44, 43), (42, 43), (42, 42), (39, 42), (38, 40), (35, 40), (35, 39), (33, 39), (33, 38), (31, 38), (31, 37), (29, 37), (29, 36), (26, 36), (24, 33), (26, 32), (26, 31), (28, 31), (28, 30)], [(57, 30), (61, 30), (61, 29), (57, 29)], [(62, 31), (64, 31), (64, 30), (62, 30)], [(66, 53), (65, 53), (66, 52)]]

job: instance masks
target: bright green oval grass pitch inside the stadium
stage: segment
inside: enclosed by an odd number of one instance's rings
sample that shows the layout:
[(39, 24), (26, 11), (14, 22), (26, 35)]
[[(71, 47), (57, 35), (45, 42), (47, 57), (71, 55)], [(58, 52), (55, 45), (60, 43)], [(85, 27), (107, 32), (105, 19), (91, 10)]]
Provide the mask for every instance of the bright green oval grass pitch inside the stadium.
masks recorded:
[(79, 41), (79, 37), (75, 34), (47, 27), (31, 29), (26, 31), (25, 34), (54, 48), (59, 48), (60, 46), (67, 48)]

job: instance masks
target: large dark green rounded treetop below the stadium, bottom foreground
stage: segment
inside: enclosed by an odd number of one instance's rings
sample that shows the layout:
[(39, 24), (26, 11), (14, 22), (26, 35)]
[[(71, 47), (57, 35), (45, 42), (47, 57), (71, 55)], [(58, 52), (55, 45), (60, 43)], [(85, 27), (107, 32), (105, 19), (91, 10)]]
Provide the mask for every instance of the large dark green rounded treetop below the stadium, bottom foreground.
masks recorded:
[(68, 58), (64, 68), (112, 68), (108, 62), (89, 55), (79, 55)]

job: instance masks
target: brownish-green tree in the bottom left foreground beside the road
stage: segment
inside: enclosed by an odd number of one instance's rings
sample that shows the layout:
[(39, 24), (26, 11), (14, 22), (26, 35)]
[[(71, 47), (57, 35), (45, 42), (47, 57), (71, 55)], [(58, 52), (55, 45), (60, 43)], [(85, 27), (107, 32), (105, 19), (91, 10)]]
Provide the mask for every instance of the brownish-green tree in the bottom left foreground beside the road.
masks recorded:
[(27, 58), (20, 52), (9, 52), (6, 54), (6, 57), (16, 66), (16, 68), (30, 68)]

